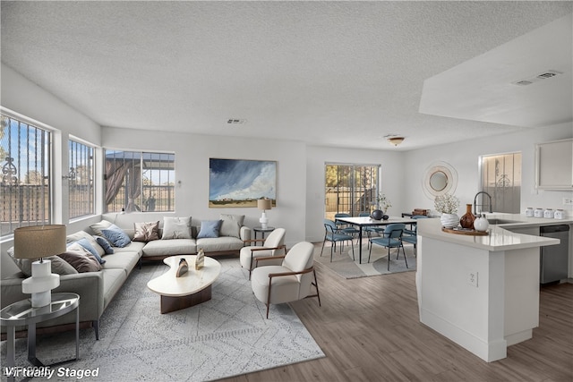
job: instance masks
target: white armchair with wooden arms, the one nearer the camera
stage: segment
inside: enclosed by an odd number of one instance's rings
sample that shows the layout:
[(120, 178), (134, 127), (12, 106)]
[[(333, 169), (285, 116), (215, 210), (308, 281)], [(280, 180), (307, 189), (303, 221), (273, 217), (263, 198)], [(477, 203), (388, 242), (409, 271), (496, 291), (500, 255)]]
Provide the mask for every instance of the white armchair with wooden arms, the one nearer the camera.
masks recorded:
[[(321, 306), (319, 284), (313, 267), (314, 246), (311, 242), (299, 242), (286, 253), (282, 265), (261, 266), (252, 270), (252, 292), (267, 305), (302, 300), (306, 297), (317, 297)], [(257, 258), (255, 262), (264, 262), (271, 258)], [(311, 294), (314, 285), (316, 293)]]

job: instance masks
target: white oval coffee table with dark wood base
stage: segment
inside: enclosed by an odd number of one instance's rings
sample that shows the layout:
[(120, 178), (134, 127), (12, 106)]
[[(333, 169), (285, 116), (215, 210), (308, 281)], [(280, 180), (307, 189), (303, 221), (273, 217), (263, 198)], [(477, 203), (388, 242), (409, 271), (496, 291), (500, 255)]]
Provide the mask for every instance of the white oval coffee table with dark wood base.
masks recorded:
[[(195, 255), (184, 255), (164, 259), (163, 262), (169, 266), (169, 270), (147, 283), (151, 291), (161, 295), (161, 313), (210, 301), (211, 284), (220, 275), (221, 265), (216, 259), (205, 257), (204, 266), (195, 270), (195, 258)], [(189, 271), (184, 276), (175, 277), (180, 259), (187, 260)]]

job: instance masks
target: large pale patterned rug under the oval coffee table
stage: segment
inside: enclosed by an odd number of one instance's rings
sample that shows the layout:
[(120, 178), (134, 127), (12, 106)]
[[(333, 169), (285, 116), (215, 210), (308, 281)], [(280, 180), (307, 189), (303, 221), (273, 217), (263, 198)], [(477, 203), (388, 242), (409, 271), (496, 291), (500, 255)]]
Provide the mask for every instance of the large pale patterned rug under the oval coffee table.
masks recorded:
[[(98, 370), (98, 381), (206, 381), (324, 357), (288, 304), (266, 308), (252, 294), (238, 259), (220, 259), (212, 299), (159, 313), (159, 296), (147, 282), (167, 271), (157, 263), (134, 269), (100, 320), (99, 341), (81, 329), (80, 361), (59, 367)], [(26, 339), (16, 340), (16, 365), (26, 361)], [(2, 344), (5, 360), (6, 345)], [(73, 358), (74, 332), (38, 335), (40, 361)], [(54, 368), (57, 370), (57, 368)], [(46, 380), (33, 378), (32, 380)], [(76, 378), (55, 374), (53, 380)]]

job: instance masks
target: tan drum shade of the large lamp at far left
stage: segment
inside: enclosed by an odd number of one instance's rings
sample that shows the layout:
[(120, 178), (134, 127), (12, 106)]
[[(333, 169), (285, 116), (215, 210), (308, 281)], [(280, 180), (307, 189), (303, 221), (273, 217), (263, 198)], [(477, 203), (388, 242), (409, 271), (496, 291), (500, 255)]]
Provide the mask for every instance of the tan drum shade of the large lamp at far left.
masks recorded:
[(14, 258), (39, 259), (65, 252), (65, 225), (32, 225), (14, 230)]

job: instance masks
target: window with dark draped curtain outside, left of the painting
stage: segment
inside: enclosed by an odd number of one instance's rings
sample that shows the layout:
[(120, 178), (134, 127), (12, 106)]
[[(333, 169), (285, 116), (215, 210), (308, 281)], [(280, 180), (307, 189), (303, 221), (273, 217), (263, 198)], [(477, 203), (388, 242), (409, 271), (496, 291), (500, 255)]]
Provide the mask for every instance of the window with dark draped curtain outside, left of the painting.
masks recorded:
[(107, 212), (174, 211), (175, 154), (106, 150)]

